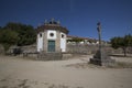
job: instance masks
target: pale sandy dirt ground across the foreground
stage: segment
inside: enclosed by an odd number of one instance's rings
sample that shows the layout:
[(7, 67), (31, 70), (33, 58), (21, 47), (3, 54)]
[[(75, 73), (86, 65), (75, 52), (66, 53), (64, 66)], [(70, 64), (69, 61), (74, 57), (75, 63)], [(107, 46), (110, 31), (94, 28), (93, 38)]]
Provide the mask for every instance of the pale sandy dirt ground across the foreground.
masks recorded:
[[(132, 88), (132, 68), (69, 66), (90, 57), (41, 62), (0, 56), (0, 88)], [(112, 58), (132, 63), (132, 58)]]

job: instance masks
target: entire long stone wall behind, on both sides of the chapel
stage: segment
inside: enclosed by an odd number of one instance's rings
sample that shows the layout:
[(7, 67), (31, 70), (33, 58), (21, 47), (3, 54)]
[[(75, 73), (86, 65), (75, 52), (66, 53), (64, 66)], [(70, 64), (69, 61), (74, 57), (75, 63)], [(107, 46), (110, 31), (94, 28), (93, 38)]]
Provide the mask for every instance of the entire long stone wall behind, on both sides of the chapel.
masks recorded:
[[(21, 47), (23, 52), (25, 53), (35, 53), (36, 52), (36, 45), (29, 45), (29, 46), (22, 46)], [(113, 50), (110, 47), (110, 45), (102, 45), (102, 48), (107, 51), (109, 54), (122, 54), (123, 51), (121, 48)], [(67, 52), (68, 54), (95, 54), (98, 50), (98, 45), (73, 45), (67, 44)], [(128, 48), (128, 53), (132, 54), (132, 48)]]

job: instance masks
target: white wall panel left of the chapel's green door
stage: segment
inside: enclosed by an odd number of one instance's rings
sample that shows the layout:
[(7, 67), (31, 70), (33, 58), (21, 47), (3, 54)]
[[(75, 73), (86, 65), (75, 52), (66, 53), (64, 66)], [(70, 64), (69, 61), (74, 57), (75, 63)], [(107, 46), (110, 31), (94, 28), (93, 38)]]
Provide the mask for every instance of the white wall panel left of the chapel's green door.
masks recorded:
[(37, 34), (37, 52), (43, 51), (43, 36), (44, 36), (44, 33)]

